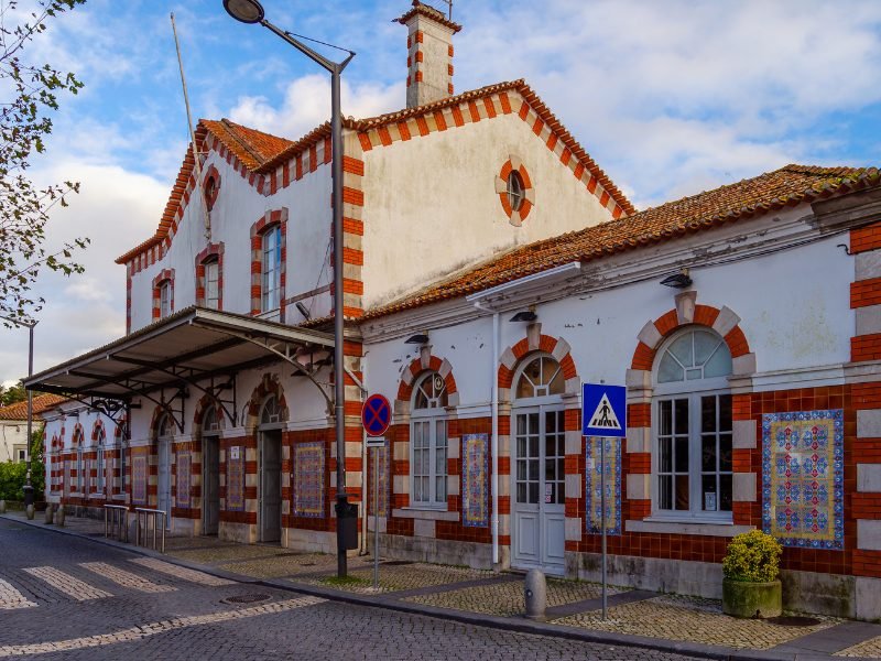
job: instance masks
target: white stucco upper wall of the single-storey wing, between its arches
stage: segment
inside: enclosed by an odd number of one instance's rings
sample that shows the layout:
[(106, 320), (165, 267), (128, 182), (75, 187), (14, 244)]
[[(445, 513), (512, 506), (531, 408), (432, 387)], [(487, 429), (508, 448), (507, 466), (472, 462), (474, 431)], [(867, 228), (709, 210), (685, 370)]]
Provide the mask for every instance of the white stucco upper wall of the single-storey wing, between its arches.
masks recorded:
[[(804, 215), (803, 209), (791, 212), (790, 218), (800, 213)], [(769, 223), (774, 220), (769, 219)], [(753, 229), (760, 231), (761, 227)], [(683, 248), (706, 239), (707, 234), (624, 253), (597, 262), (595, 267), (602, 270), (624, 262), (639, 264), (651, 253), (656, 257), (674, 246)], [(717, 231), (717, 236), (722, 236), (722, 232)], [(787, 379), (808, 378), (769, 372), (829, 366), (840, 369), (841, 364), (850, 360), (850, 338), (855, 333), (855, 314), (849, 304), (853, 258), (837, 247), (841, 242), (841, 236), (816, 238), (812, 243), (791, 250), (692, 269), (692, 290), (697, 292), (697, 303), (717, 308), (727, 306), (740, 317), (740, 328), (757, 357), (757, 390), (785, 388)], [(675, 268), (671, 268), (673, 270)], [(563, 338), (572, 346), (573, 359), (583, 381), (624, 383), (640, 330), (646, 322), (675, 307), (674, 297), (678, 290), (662, 286), (660, 280), (652, 278), (539, 303), (536, 312), (542, 333)], [(548, 294), (553, 295), (553, 290)], [(456, 313), (461, 310), (461, 305), (456, 307)], [(428, 311), (417, 308), (374, 323), (374, 327), (381, 325), (387, 333), (400, 328), (401, 334), (393, 339), (373, 342), (370, 339), (370, 325), (366, 327), (368, 389), (393, 400), (402, 370), (418, 350), (413, 345), (405, 345), (404, 339), (409, 333), (427, 329), (432, 354), (448, 359), (453, 365), (460, 393), (459, 415), (468, 416), (468, 409), (475, 407), (478, 408), (474, 410), (475, 415), (487, 415), (479, 408), (490, 402), (492, 379), (499, 365), (491, 356), (491, 316), (445, 326), (443, 315), (438, 313), (435, 325), (428, 326), (424, 321)], [(509, 322), (514, 311), (501, 314), (500, 354), (525, 337), (526, 324)], [(840, 379), (842, 382), (842, 375)]]

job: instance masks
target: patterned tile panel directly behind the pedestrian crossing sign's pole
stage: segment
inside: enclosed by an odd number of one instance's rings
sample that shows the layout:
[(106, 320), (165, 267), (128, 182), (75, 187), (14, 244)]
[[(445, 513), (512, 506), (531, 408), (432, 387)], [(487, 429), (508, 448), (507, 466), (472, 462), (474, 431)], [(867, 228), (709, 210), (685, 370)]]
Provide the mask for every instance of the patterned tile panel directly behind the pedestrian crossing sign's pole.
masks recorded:
[(587, 532), (602, 532), (602, 462), (606, 444), (606, 534), (621, 534), (621, 440), (588, 436), (585, 448), (585, 494)]

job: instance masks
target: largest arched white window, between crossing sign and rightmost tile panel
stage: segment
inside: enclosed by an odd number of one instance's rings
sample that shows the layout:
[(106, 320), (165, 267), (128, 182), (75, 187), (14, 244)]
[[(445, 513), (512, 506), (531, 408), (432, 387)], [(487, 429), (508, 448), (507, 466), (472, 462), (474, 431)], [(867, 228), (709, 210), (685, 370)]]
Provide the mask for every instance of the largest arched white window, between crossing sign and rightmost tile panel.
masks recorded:
[(654, 369), (655, 514), (731, 519), (731, 354), (705, 328), (667, 340)]

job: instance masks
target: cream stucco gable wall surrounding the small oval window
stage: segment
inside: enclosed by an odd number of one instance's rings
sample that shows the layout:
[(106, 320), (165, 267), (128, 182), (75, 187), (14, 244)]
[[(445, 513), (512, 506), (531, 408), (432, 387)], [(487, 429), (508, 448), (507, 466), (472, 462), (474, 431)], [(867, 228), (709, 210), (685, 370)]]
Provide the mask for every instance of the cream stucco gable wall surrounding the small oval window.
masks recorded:
[[(510, 224), (496, 192), (511, 154), (534, 186), (522, 227)], [(611, 218), (515, 113), (367, 152), (363, 191), (366, 308), (475, 260)]]

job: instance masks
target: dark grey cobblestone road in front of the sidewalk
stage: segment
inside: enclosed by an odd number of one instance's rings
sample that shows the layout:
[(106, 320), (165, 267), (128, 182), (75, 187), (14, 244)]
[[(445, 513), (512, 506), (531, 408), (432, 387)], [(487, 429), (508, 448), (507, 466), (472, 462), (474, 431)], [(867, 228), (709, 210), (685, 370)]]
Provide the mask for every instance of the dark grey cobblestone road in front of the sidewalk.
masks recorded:
[[(124, 550), (0, 519), (0, 599), (32, 604), (2, 611), (0, 659), (481, 659), (686, 661), (639, 648), (516, 633), (422, 615), (335, 603), (248, 584), (215, 585), (177, 575)], [(162, 562), (162, 561), (159, 561)], [(173, 592), (120, 585), (102, 563)], [(24, 570), (54, 567), (110, 596), (77, 600)], [(40, 574), (40, 573), (37, 573)], [(62, 576), (54, 576), (61, 581)], [(139, 583), (140, 584), (140, 583)], [(14, 594), (9, 590), (14, 590)], [(257, 593), (265, 600), (230, 603)], [(15, 597), (18, 598), (18, 597)]]

